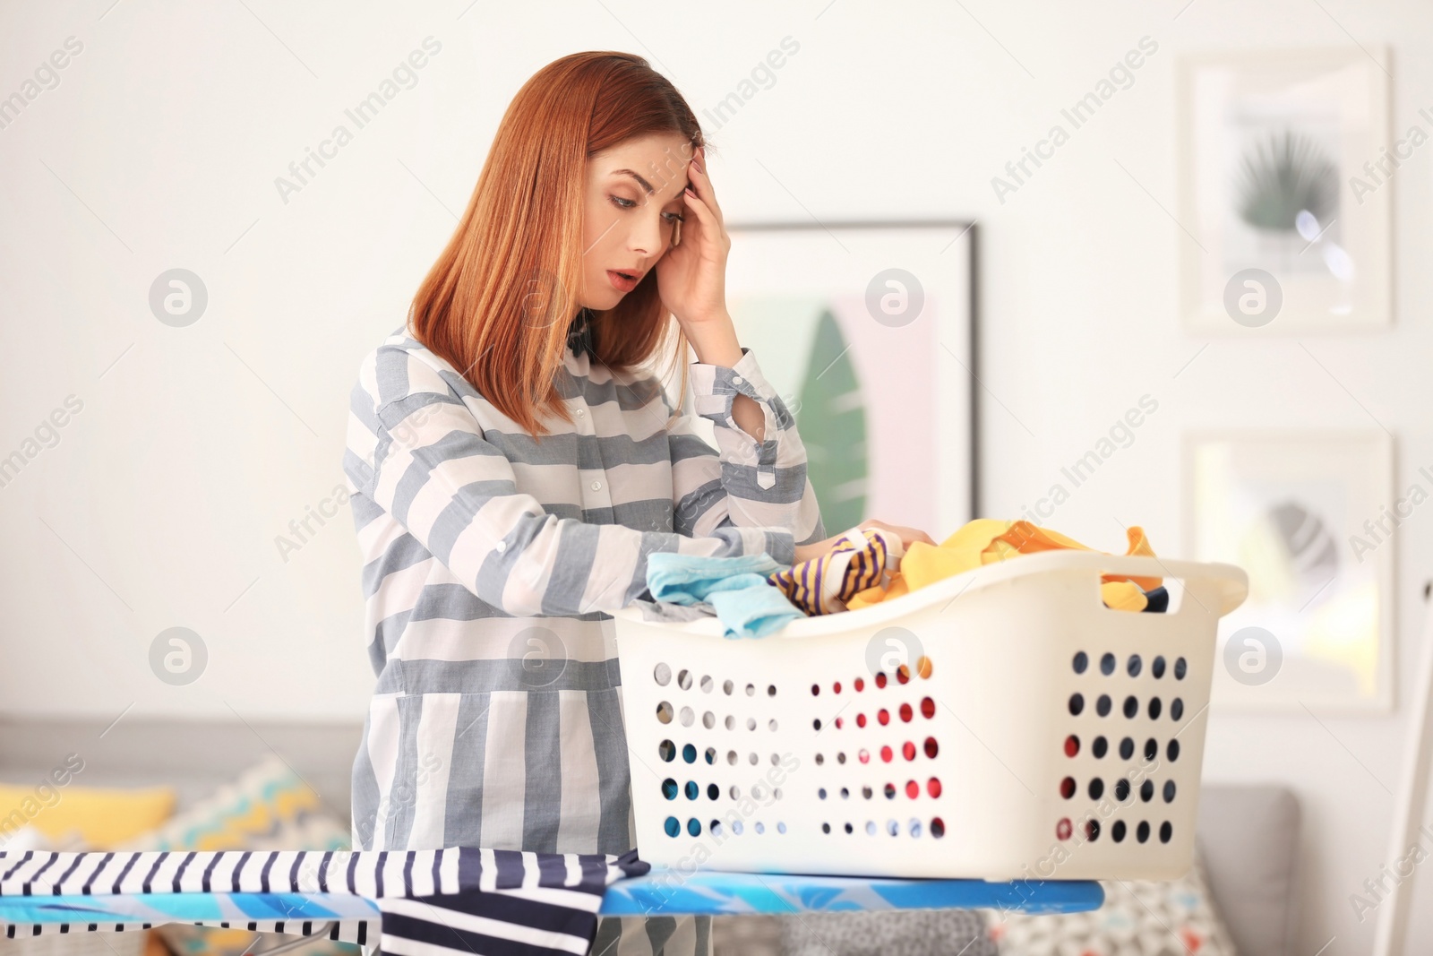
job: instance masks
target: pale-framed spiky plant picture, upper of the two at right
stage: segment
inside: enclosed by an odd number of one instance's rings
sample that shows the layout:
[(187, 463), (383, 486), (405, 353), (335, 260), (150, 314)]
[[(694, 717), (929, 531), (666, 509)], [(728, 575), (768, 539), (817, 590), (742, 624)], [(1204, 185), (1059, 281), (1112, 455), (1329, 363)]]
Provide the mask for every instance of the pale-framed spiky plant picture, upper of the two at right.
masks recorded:
[[(1390, 322), (1397, 163), (1389, 54), (1185, 56), (1176, 67), (1179, 307), (1201, 334)], [(1420, 120), (1427, 128), (1427, 123)]]

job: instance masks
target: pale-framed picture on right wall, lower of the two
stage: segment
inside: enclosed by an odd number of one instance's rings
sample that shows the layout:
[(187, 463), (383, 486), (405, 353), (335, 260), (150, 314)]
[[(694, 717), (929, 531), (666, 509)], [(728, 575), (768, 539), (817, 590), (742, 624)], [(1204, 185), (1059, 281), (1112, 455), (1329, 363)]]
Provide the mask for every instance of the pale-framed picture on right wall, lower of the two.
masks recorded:
[(1381, 430), (1195, 431), (1184, 469), (1192, 556), (1250, 576), (1219, 621), (1212, 704), (1390, 711), (1397, 526), (1433, 472), (1394, 494)]

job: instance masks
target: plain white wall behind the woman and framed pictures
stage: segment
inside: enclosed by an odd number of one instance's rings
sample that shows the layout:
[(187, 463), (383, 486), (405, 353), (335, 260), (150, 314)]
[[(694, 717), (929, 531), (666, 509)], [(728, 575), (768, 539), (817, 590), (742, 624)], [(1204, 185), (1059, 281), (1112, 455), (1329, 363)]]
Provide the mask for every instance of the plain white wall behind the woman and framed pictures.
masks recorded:
[[(651, 56), (701, 113), (782, 37), (801, 44), (714, 133), (732, 221), (980, 221), (983, 377), (999, 398), (980, 423), (987, 515), (1017, 515), (1146, 391), (1159, 414), (1053, 527), (1118, 549), (1116, 520), (1141, 523), (1179, 555), (1178, 441), (1191, 427), (1367, 427), (1371, 413), (1399, 437), (1400, 487), (1433, 463), (1429, 155), (1396, 178), (1391, 331), (1310, 337), (1308, 351), (1217, 340), (1178, 380), (1204, 341), (1176, 321), (1187, 239), (1161, 209), (1175, 201), (1181, 50), (1389, 43), (1403, 129), (1433, 103), (1427, 4), (245, 1), (0, 11), (0, 96), (66, 37), (83, 43), (59, 86), (0, 129), (0, 454), (66, 396), (83, 401), (59, 444), (0, 487), (6, 712), (355, 720), (373, 678), (351, 520), (342, 512), (287, 562), (274, 539), (341, 480), (355, 365), (403, 321), (507, 100), (579, 49)], [(990, 178), (1146, 34), (1159, 52), (1135, 85), (1002, 205)], [(285, 202), (275, 176), (427, 36), (441, 52), (417, 85)], [(209, 291), (186, 328), (146, 302), (173, 267)], [(1211, 715), (1209, 778), (1284, 781), (1303, 801), (1295, 953), (1330, 937), (1327, 956), (1371, 945), (1373, 920), (1357, 923), (1347, 897), (1387, 861), (1429, 520), (1399, 532), (1399, 712), (1323, 727)], [(146, 661), (176, 625), (209, 652), (188, 687), (160, 684)]]

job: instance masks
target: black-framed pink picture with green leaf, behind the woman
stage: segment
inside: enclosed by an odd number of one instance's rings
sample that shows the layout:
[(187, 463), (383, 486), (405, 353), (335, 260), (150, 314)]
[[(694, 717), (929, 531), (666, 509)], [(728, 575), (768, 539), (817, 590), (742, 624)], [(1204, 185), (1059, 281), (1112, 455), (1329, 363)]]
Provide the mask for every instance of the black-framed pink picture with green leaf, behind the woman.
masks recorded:
[(974, 224), (727, 228), (727, 305), (795, 416), (827, 533), (876, 517), (941, 540), (970, 520)]

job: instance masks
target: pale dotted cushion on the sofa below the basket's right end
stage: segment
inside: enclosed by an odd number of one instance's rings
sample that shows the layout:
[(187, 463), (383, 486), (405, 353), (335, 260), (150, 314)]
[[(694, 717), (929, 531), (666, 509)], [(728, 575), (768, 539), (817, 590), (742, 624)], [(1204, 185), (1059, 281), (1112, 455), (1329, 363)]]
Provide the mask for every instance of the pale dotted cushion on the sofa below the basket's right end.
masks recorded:
[(1235, 956), (1198, 856), (1179, 880), (1102, 880), (1091, 913), (1026, 916), (987, 912), (1002, 956)]

